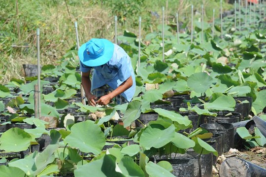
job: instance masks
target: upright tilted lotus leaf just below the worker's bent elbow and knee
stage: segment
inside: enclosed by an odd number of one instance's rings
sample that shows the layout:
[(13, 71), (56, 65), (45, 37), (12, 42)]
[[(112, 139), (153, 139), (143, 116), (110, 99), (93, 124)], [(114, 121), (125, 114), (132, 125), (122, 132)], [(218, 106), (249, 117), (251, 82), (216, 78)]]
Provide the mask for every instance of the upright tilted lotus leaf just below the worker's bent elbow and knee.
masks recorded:
[(122, 118), (124, 122), (124, 127), (128, 127), (131, 123), (136, 120), (141, 113), (141, 102), (140, 101), (132, 101), (129, 103), (125, 115)]

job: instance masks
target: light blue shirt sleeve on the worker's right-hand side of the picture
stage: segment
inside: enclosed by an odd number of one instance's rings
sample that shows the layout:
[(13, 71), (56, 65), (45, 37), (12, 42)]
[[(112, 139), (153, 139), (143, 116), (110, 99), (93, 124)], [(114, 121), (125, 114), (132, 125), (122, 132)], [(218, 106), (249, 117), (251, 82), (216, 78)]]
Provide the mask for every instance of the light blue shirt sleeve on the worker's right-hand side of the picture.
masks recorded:
[(127, 80), (131, 76), (132, 66), (129, 56), (122, 57), (117, 63), (118, 78), (122, 82)]

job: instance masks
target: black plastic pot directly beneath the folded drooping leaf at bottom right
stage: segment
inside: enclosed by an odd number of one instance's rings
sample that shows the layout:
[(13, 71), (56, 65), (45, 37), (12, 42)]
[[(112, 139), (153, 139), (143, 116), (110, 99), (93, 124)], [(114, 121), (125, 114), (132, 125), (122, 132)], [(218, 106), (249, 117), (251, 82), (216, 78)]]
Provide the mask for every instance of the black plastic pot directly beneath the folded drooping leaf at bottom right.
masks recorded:
[(189, 148), (187, 153), (193, 156), (195, 177), (212, 177), (212, 153), (199, 155), (192, 148)]

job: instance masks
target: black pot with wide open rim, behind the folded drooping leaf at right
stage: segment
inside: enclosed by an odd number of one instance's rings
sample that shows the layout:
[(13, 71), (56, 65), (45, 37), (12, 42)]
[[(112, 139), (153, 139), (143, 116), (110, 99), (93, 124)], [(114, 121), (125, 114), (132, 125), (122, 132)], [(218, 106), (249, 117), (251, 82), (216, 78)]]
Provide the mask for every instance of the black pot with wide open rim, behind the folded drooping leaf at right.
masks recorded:
[(229, 123), (206, 123), (200, 125), (211, 133), (220, 133), (223, 135), (223, 152), (228, 152), (234, 147), (234, 127)]

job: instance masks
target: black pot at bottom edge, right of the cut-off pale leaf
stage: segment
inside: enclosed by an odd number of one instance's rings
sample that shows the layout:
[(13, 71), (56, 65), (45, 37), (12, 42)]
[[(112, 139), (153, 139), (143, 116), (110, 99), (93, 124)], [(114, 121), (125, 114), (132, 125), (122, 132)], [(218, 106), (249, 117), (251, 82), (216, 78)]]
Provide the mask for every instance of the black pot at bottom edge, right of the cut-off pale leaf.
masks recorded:
[(194, 177), (194, 163), (190, 158), (173, 158), (173, 159), (160, 159), (156, 162), (167, 161), (172, 165), (173, 171), (171, 172), (175, 177)]

